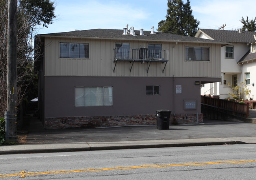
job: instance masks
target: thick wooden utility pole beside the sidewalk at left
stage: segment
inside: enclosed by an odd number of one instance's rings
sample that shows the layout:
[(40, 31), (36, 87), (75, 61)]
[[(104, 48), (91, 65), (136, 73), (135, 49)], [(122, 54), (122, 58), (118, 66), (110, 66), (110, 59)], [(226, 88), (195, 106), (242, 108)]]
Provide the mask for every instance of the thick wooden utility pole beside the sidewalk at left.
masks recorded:
[(8, 0), (6, 139), (17, 138), (17, 0)]

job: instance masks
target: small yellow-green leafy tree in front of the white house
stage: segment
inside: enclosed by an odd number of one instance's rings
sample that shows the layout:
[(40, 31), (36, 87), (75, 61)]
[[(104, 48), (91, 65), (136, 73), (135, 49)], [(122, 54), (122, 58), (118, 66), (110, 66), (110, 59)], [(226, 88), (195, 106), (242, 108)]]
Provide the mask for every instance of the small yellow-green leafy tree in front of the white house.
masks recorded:
[(228, 93), (236, 100), (243, 100), (251, 93), (251, 90), (247, 88), (244, 82), (240, 82), (236, 86), (231, 86), (230, 83), (228, 83), (228, 87), (231, 88), (232, 93)]

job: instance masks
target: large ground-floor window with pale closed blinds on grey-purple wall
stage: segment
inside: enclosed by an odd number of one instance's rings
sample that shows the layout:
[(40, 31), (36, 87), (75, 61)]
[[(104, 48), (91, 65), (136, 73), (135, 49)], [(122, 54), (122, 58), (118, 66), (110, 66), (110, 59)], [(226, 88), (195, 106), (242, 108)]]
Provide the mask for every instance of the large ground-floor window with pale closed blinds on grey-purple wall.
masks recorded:
[(113, 105), (113, 87), (75, 87), (75, 106)]

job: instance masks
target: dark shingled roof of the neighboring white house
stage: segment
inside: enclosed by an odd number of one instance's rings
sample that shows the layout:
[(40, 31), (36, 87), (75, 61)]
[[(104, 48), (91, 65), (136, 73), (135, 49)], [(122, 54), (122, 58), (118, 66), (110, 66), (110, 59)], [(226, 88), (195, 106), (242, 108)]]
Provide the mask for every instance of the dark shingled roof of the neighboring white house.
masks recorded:
[(228, 31), (228, 30), (217, 30), (217, 29), (199, 29), (198, 33), (201, 32), (212, 39), (222, 42), (241, 42), (250, 43), (254, 40), (256, 32), (252, 31)]

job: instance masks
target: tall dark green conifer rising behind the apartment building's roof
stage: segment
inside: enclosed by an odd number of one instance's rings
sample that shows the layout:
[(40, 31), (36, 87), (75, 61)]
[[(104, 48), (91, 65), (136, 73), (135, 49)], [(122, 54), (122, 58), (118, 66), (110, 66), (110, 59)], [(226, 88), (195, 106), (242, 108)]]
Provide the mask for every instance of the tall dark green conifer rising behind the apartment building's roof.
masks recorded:
[(166, 20), (158, 23), (158, 31), (177, 35), (195, 36), (200, 24), (192, 15), (190, 1), (168, 0)]

